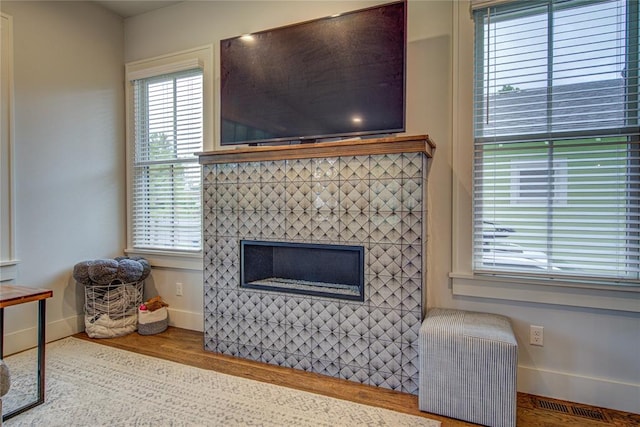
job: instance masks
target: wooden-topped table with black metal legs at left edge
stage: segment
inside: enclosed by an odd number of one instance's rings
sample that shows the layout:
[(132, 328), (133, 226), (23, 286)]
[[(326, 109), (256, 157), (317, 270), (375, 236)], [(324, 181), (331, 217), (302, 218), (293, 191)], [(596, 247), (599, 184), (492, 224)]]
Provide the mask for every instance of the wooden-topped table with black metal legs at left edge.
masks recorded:
[(27, 302), (38, 302), (38, 398), (35, 402), (27, 403), (8, 414), (0, 414), (3, 421), (44, 403), (46, 303), (47, 298), (51, 298), (52, 296), (53, 291), (49, 289), (0, 285), (0, 358), (4, 356), (4, 308)]

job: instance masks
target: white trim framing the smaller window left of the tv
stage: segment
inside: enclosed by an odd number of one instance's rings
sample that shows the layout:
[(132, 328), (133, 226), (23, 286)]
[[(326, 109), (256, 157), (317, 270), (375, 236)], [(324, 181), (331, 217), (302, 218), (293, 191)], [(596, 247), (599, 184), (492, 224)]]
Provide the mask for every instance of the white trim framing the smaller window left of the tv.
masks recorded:
[(131, 80), (167, 72), (179, 71), (185, 67), (202, 68), (203, 79), (203, 135), (204, 151), (214, 147), (214, 109), (213, 109), (213, 45), (202, 46), (181, 52), (157, 56), (154, 58), (130, 62), (126, 64), (125, 98), (126, 98), (126, 147), (127, 147), (127, 248), (129, 256), (145, 257), (153, 267), (175, 268), (184, 270), (202, 270), (202, 252), (187, 253), (179, 251), (143, 250), (133, 247), (132, 225), (132, 193), (133, 188), (133, 149), (134, 149), (134, 119), (133, 119), (133, 85)]

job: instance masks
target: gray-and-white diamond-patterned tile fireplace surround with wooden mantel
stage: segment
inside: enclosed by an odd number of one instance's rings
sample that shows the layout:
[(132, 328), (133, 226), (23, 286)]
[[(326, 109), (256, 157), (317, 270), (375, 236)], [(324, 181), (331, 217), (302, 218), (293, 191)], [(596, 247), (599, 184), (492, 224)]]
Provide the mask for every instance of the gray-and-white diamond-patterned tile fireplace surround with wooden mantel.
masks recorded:
[[(417, 394), (432, 148), (422, 135), (202, 153), (206, 350)], [(242, 239), (363, 246), (364, 302), (240, 288)]]

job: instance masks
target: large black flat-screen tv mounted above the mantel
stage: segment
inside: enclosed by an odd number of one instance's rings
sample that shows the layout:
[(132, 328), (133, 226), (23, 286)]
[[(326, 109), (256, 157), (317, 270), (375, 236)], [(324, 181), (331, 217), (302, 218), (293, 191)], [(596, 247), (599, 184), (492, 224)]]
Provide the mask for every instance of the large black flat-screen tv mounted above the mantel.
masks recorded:
[(406, 3), (220, 42), (221, 144), (405, 130)]

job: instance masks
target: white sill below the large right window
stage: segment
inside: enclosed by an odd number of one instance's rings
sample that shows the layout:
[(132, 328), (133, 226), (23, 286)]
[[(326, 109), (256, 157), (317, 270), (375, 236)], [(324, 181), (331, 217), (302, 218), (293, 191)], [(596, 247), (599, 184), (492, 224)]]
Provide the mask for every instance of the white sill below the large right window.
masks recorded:
[(450, 273), (453, 294), (640, 313), (640, 285), (580, 284)]

